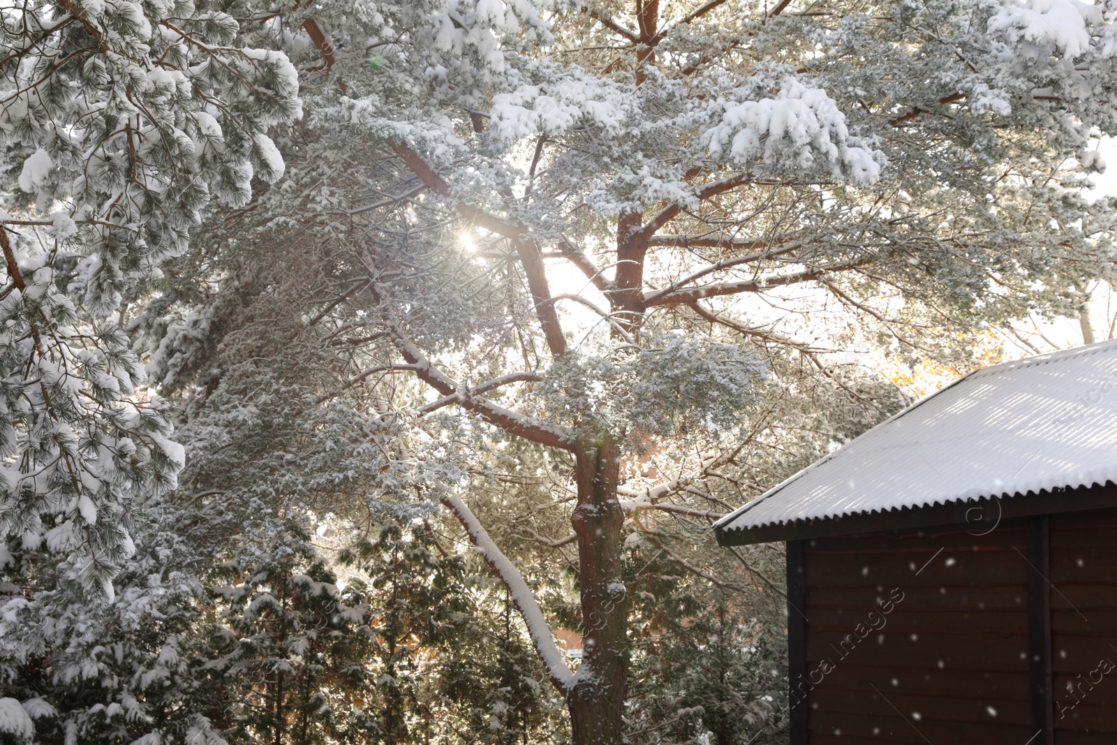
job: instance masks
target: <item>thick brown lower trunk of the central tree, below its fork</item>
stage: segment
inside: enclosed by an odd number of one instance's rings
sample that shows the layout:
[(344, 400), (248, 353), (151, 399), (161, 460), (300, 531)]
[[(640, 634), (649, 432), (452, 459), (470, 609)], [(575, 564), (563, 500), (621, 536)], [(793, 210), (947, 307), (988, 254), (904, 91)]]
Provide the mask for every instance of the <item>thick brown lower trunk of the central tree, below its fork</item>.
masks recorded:
[(621, 524), (617, 500), (619, 458), (611, 438), (575, 451), (577, 535), (582, 583), (583, 651), (567, 694), (575, 745), (620, 745), (628, 681), (628, 612), (621, 581)]

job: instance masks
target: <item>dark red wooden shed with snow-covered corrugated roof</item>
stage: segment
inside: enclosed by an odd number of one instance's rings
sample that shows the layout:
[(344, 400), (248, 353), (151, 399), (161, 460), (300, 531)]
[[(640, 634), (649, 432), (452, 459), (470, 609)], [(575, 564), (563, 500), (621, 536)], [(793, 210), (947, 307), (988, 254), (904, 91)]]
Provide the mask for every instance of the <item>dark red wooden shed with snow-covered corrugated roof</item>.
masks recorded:
[(973, 372), (719, 520), (784, 541), (792, 745), (1117, 744), (1117, 342)]

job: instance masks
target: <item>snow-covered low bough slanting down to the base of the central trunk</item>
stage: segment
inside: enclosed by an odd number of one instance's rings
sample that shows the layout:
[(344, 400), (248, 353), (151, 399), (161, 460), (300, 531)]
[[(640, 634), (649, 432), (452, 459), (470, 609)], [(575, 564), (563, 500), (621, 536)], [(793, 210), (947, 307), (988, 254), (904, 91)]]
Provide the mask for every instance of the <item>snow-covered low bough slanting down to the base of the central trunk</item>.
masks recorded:
[(461, 526), (466, 528), (466, 533), (469, 534), (469, 539), (477, 547), (477, 551), (480, 552), (481, 556), (485, 557), (485, 562), (491, 567), (504, 585), (508, 588), (508, 592), (512, 593), (512, 600), (516, 603), (516, 609), (527, 625), (527, 633), (532, 637), (535, 651), (547, 669), (551, 682), (562, 691), (569, 690), (574, 682), (574, 672), (566, 665), (563, 653), (555, 644), (551, 627), (547, 624), (546, 619), (543, 618), (543, 611), (540, 610), (535, 594), (527, 586), (527, 582), (524, 581), (524, 576), (519, 573), (519, 570), (497, 547), (493, 538), (489, 537), (488, 531), (485, 529), (485, 526), (480, 524), (469, 507), (466, 506), (461, 497), (447, 490), (440, 496), (440, 500), (458, 518)]

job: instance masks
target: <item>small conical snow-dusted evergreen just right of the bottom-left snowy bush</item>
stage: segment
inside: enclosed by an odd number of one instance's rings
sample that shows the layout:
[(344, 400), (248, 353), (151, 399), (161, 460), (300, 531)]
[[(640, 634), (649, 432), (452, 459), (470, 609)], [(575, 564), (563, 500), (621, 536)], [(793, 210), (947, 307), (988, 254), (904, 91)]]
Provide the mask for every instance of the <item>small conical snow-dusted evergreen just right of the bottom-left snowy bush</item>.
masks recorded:
[(380, 742), (362, 706), (375, 694), (366, 598), (340, 586), (304, 525), (265, 523), (209, 572), (216, 622), (194, 678), (220, 706), (214, 728), (229, 743)]

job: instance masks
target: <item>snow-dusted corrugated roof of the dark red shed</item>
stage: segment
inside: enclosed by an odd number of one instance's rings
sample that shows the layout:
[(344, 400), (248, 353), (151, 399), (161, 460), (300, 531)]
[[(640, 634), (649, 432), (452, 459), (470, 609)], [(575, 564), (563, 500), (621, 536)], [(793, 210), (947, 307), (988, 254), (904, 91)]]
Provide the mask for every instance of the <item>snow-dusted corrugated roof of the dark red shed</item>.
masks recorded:
[(1117, 483), (1117, 341), (974, 371), (726, 515), (722, 532)]

